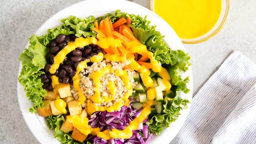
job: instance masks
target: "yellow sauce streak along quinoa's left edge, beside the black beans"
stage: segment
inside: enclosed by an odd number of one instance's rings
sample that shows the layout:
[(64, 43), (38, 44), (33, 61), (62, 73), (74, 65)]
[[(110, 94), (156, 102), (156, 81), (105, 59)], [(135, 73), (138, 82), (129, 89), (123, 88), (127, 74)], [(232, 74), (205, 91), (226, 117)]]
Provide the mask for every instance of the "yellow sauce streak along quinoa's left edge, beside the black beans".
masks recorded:
[(73, 79), (73, 86), (78, 91), (78, 95), (79, 95), (78, 100), (79, 100), (80, 104), (83, 104), (85, 102), (86, 97), (85, 97), (85, 95), (83, 95), (83, 92), (80, 88), (80, 75), (79, 75), (79, 73), (87, 67), (87, 62), (89, 62), (89, 59), (86, 59), (85, 61), (81, 61), (78, 64), (78, 66), (76, 68), (76, 75), (73, 76), (73, 78), (72, 78)]

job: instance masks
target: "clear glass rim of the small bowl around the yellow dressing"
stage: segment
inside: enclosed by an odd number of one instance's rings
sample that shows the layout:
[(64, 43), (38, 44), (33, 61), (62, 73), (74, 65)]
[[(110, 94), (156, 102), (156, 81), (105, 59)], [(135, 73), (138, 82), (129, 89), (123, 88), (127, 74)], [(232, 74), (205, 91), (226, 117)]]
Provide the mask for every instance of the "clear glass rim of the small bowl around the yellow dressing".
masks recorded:
[[(227, 21), (227, 17), (229, 15), (229, 10), (230, 10), (230, 0), (225, 0), (226, 1), (226, 10), (225, 10), (225, 14), (224, 14), (224, 17), (223, 19), (221, 20), (221, 23), (220, 25), (216, 28), (216, 30), (214, 30), (213, 32), (211, 32), (210, 34), (204, 34), (206, 35), (205, 37), (203, 38), (200, 38), (199, 40), (193, 40), (193, 39), (190, 39), (190, 40), (184, 40), (182, 38), (181, 39), (181, 42), (183, 44), (198, 44), (198, 43), (201, 43), (201, 42), (204, 42), (204, 41), (207, 41), (209, 40), (210, 38), (214, 37), (223, 27), (224, 25), (226, 24), (226, 21)], [(149, 8), (151, 11), (155, 12), (154, 11), (154, 0), (150, 0), (149, 2)], [(217, 24), (217, 23), (216, 23)], [(216, 25), (215, 24), (215, 25)], [(202, 35), (203, 36), (203, 35)]]

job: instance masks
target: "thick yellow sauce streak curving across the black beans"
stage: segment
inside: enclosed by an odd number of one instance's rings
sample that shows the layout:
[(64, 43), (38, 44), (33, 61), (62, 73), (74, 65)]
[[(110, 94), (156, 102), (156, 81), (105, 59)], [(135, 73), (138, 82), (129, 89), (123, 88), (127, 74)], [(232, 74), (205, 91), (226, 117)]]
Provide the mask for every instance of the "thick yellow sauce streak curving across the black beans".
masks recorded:
[(97, 44), (97, 39), (94, 37), (80, 37), (76, 38), (75, 41), (68, 42), (68, 45), (66, 45), (66, 47), (59, 51), (58, 54), (54, 57), (54, 63), (52, 64), (52, 68), (50, 68), (49, 72), (55, 73), (56, 69), (59, 68), (60, 63), (63, 62), (69, 52), (73, 51), (77, 47), (84, 47), (85, 45), (89, 44)]

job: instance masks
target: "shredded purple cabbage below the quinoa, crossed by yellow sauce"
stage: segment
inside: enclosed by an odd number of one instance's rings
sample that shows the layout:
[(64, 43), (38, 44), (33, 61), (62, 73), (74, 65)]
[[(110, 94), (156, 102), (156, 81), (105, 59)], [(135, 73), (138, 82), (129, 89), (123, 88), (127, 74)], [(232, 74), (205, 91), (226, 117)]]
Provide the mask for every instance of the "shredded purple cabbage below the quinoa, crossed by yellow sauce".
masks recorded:
[[(140, 115), (141, 110), (137, 112), (133, 107), (122, 106), (119, 112), (95, 112), (96, 117), (94, 114), (91, 115), (89, 117), (89, 124), (93, 128), (99, 127), (101, 131), (112, 130), (112, 128), (124, 130), (125, 127), (129, 126), (129, 122)], [(94, 144), (147, 144), (152, 137), (152, 134), (150, 136), (148, 134), (148, 126), (144, 124), (147, 121), (148, 119), (144, 120), (138, 130), (133, 130), (132, 137), (128, 139), (111, 138), (110, 140), (104, 140), (103, 138), (91, 135), (87, 139), (88, 141), (93, 141)]]

